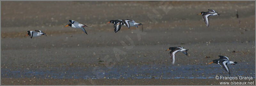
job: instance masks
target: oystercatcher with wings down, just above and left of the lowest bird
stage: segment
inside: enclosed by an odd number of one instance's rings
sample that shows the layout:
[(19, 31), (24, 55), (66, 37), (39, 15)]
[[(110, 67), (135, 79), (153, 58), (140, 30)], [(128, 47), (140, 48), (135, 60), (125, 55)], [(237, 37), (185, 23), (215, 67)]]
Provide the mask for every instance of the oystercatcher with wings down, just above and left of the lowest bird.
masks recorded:
[[(177, 52), (182, 52), (182, 53), (188, 55), (188, 53), (187, 53), (188, 49), (184, 49), (183, 47), (180, 47), (180, 46), (178, 46), (178, 47), (169, 47), (169, 49), (167, 49), (167, 50), (171, 50), (170, 58), (172, 60), (172, 64), (175, 63)], [(165, 50), (165, 51), (167, 51), (167, 50)]]

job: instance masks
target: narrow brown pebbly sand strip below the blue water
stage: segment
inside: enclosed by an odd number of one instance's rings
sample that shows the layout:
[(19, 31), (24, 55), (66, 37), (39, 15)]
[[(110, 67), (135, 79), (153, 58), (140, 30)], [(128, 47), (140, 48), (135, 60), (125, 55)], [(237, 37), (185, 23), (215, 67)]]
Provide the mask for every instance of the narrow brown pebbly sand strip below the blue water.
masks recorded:
[(34, 79), (3, 78), (4, 85), (220, 85), (220, 82), (252, 82), (253, 80), (216, 80), (216, 79)]

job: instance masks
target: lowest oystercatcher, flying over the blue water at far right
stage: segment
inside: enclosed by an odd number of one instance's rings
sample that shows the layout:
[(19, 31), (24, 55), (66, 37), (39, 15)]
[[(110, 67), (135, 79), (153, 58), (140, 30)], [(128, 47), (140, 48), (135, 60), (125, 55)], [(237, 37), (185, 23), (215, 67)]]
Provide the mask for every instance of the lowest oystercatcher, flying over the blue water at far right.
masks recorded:
[[(235, 65), (235, 64), (237, 64), (237, 62), (236, 61), (235, 62), (234, 61), (230, 61), (227, 56), (222, 56), (222, 55), (219, 55), (219, 56), (220, 56), (220, 59), (213, 60), (210, 63), (219, 64), (230, 75), (228, 64)], [(208, 64), (210, 64), (210, 63), (208, 63)]]

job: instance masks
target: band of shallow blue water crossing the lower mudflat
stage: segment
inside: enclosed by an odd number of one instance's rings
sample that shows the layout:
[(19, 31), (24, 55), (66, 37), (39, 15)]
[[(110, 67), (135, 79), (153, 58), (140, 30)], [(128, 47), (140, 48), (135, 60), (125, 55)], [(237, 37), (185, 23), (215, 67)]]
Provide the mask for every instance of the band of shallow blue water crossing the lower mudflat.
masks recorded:
[[(255, 65), (239, 63), (228, 65), (231, 75), (217, 64), (209, 65), (130, 65), (113, 68), (107, 67), (60, 67), (35, 69), (7, 69), (1, 68), (1, 77), (4, 78), (215, 78), (223, 76), (252, 76), (255, 78)], [(225, 72), (225, 73), (223, 73)]]

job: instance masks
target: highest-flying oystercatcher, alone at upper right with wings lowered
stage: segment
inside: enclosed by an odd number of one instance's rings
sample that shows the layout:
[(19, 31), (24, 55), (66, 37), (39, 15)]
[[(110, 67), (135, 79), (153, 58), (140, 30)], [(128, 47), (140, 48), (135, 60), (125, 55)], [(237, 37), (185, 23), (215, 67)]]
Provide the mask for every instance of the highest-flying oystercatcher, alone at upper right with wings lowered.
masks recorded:
[[(204, 20), (204, 23), (205, 23), (205, 25), (206, 25), (207, 27), (209, 27), (209, 17), (210, 17), (211, 15), (213, 15), (213, 16), (220, 16), (220, 14), (219, 14), (218, 12), (216, 12), (216, 11), (214, 11), (214, 10), (211, 10), (211, 9), (208, 9), (207, 12), (202, 11), (202, 12), (199, 13), (199, 14), (203, 14), (203, 15), (202, 15), (202, 16), (203, 16), (203, 20)], [(197, 14), (197, 15), (199, 15), (199, 14)]]

